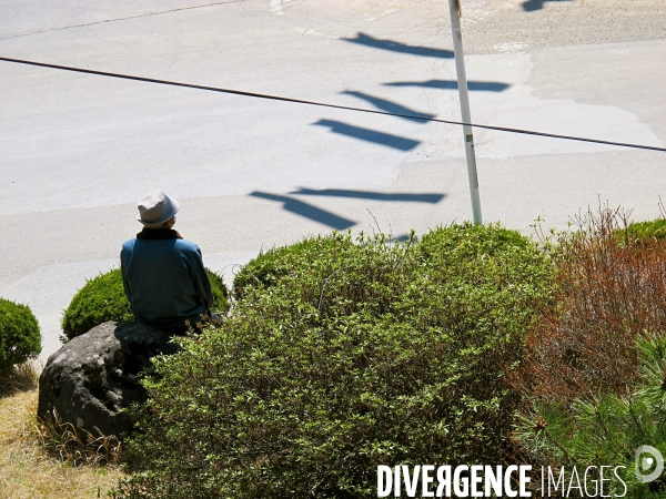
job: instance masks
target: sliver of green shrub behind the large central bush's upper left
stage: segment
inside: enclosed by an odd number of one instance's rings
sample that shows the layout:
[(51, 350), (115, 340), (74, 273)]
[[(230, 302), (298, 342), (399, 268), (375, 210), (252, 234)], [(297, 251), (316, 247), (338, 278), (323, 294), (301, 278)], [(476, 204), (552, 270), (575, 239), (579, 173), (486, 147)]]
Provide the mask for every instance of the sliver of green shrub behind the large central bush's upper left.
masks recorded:
[(312, 265), (319, 254), (335, 249), (337, 245), (351, 245), (351, 241), (339, 242), (331, 237), (309, 237), (299, 243), (261, 252), (245, 264), (233, 279), (233, 293), (242, 298), (250, 287), (268, 287), (290, 273), (295, 265)]

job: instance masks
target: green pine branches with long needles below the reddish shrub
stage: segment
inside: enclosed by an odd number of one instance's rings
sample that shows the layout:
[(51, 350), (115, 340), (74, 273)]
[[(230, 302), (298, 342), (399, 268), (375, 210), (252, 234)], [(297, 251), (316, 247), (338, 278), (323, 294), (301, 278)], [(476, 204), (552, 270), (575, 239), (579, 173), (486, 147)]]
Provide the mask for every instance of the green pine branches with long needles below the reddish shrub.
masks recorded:
[[(656, 499), (665, 496), (663, 473), (644, 483), (637, 480), (634, 470), (636, 449), (643, 445), (666, 455), (666, 338), (638, 338), (637, 352), (639, 384), (629, 396), (610, 393), (593, 399), (576, 399), (569, 406), (534, 403), (532, 411), (522, 418), (516, 435), (535, 464), (558, 470), (566, 467), (565, 483), (571, 480), (573, 467), (582, 475), (591, 466), (609, 466), (609, 469), (624, 466), (618, 472), (626, 491), (614, 480), (606, 483), (606, 497)], [(653, 466), (643, 472), (654, 469)]]

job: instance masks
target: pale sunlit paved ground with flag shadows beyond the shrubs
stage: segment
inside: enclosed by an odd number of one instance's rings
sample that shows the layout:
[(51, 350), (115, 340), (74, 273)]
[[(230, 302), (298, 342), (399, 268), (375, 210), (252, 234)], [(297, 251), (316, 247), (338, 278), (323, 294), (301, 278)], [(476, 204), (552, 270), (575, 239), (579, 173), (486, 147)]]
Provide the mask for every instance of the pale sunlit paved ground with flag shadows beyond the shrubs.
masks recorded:
[[(465, 0), (478, 123), (666, 144), (666, 0)], [(369, 109), (460, 116), (443, 0), (0, 2), (0, 55)], [(0, 296), (58, 348), (62, 308), (115, 265), (135, 202), (231, 277), (332, 228), (471, 216), (454, 126), (0, 62)], [(477, 131), (484, 218), (564, 227), (598, 200), (658, 215), (666, 154)]]

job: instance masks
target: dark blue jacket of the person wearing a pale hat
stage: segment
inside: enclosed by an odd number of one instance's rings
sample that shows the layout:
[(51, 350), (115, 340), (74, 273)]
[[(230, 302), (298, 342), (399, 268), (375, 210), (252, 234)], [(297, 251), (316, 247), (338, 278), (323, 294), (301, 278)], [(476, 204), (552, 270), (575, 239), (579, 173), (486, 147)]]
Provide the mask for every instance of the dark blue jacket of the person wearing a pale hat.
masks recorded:
[(122, 283), (138, 320), (184, 328), (213, 304), (201, 251), (171, 230), (144, 228), (120, 252)]

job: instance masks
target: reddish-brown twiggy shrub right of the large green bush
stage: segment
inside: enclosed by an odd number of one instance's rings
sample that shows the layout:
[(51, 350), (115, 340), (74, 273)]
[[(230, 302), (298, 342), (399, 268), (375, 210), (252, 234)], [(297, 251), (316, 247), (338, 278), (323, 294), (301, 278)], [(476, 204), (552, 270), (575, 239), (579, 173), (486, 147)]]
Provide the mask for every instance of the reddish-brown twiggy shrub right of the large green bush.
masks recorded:
[(636, 381), (636, 336), (666, 332), (666, 241), (634, 237), (627, 217), (599, 208), (559, 237), (555, 305), (509, 379), (529, 398), (626, 394)]

